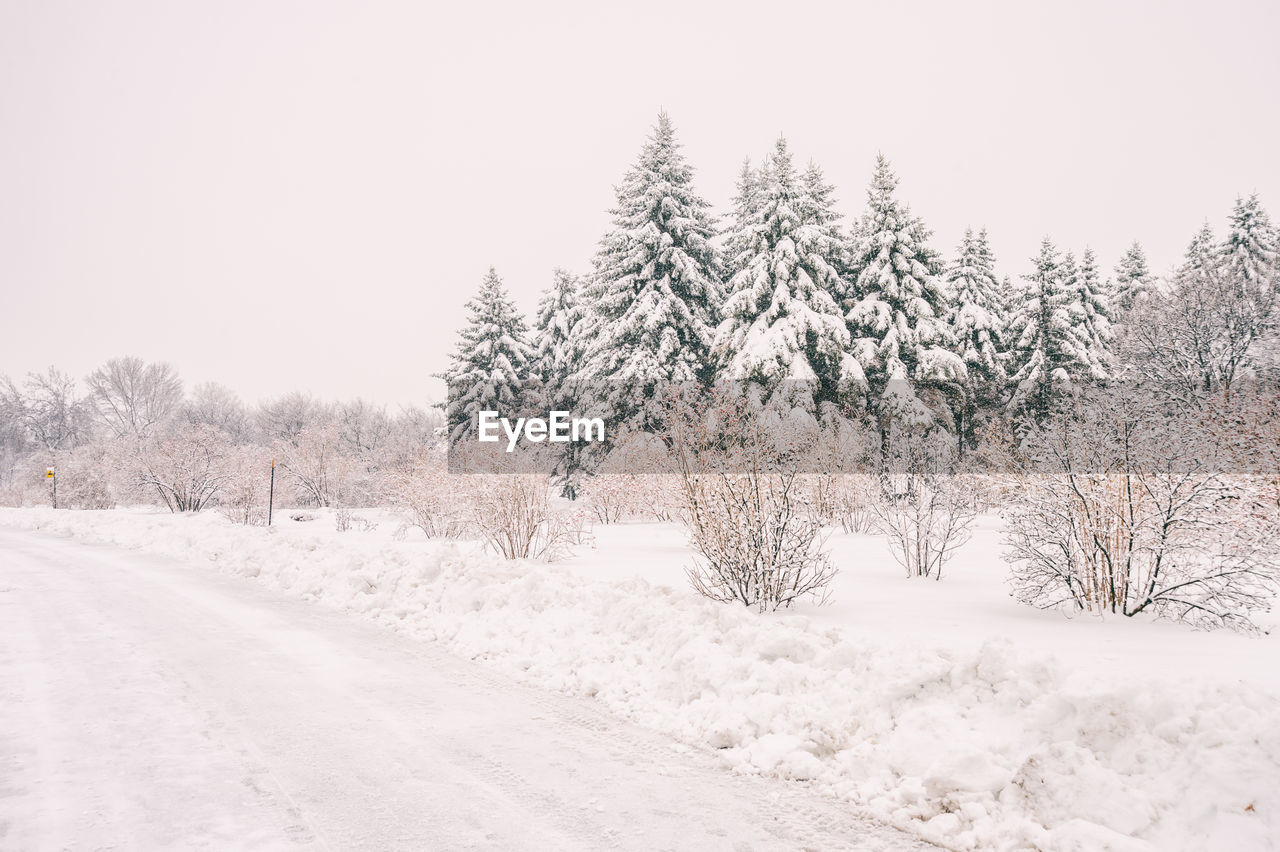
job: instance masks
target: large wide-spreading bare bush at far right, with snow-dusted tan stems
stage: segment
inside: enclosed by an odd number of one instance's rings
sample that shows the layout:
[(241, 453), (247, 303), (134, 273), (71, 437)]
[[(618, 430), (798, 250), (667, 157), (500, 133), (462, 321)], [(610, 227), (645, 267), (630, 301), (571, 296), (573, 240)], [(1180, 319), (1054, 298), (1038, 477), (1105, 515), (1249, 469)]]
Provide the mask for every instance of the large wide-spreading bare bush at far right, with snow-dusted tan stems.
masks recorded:
[(1015, 596), (1253, 629), (1280, 590), (1280, 525), (1267, 480), (1230, 472), (1217, 438), (1201, 413), (1126, 400), (1032, 431), (1041, 472), (1005, 512)]

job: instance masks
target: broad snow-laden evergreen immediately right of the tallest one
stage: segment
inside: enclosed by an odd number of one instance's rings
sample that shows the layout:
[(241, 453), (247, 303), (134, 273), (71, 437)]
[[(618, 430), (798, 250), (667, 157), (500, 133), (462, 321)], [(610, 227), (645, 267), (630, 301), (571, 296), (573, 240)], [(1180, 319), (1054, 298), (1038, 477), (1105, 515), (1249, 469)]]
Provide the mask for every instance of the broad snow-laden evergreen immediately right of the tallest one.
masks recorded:
[(844, 289), (842, 243), (829, 223), (817, 221), (823, 200), (810, 198), (805, 183), (780, 138), (733, 234), (742, 249), (713, 354), (722, 377), (754, 385), (764, 400), (786, 388), (780, 402), (815, 412), (823, 402), (854, 399), (865, 380), (833, 296)]

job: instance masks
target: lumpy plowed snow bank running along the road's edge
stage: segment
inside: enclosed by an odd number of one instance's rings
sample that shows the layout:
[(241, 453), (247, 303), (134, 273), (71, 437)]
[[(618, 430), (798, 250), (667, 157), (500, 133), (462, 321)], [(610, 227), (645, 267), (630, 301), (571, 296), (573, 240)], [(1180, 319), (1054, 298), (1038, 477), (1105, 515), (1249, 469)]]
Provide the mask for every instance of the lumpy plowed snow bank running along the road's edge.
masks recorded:
[(0, 523), (214, 562), (595, 696), (740, 771), (812, 780), (951, 848), (1235, 851), (1280, 837), (1280, 700), (1253, 687), (1135, 672), (1089, 691), (1007, 641), (854, 645), (804, 618), (470, 545), (211, 514), (17, 509)]

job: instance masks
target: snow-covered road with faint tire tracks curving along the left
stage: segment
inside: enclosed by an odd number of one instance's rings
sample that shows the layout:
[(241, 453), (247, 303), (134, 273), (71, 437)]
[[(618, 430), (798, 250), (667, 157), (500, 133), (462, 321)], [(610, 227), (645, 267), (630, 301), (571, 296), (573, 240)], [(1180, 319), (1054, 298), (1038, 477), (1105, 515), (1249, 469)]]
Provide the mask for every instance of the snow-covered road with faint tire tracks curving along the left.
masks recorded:
[(0, 848), (922, 847), (364, 619), (0, 530)]

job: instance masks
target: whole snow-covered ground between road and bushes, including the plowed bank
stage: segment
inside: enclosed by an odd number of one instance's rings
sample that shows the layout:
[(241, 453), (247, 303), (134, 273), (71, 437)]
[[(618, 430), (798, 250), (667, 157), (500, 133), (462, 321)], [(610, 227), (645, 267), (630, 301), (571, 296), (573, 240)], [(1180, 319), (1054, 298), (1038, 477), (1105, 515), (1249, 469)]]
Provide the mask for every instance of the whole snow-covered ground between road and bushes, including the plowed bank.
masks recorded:
[[(312, 513), (317, 514), (317, 513)], [(726, 766), (809, 782), (950, 848), (1266, 849), (1280, 837), (1276, 637), (1015, 604), (998, 523), (941, 582), (835, 535), (829, 606), (760, 615), (684, 581), (678, 527), (596, 527), (559, 564), (477, 545), (154, 512), (0, 525), (188, 559), (608, 709)]]

